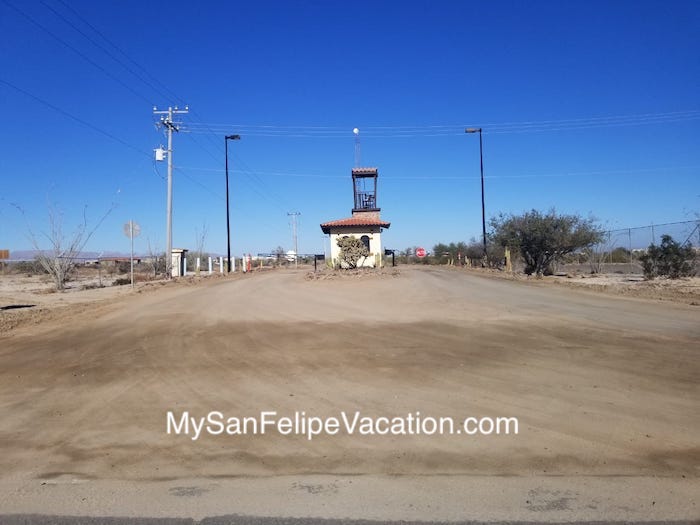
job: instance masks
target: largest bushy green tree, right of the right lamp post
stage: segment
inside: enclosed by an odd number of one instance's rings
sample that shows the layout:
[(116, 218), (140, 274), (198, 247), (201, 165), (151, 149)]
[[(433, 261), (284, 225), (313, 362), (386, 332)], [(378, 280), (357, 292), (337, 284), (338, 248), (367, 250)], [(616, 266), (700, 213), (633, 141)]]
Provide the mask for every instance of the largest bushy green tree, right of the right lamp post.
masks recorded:
[(494, 240), (520, 253), (525, 273), (541, 277), (562, 257), (601, 241), (603, 232), (593, 219), (532, 210), (522, 215), (491, 219)]

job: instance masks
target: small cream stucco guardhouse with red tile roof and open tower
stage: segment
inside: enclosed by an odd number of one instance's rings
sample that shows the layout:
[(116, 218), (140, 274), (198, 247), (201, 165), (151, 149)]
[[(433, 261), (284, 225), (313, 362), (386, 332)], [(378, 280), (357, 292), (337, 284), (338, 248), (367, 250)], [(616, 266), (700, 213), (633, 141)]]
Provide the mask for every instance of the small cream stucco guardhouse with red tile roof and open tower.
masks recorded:
[(384, 265), (381, 233), (391, 223), (380, 217), (381, 209), (377, 206), (378, 177), (377, 168), (354, 168), (352, 216), (321, 224), (321, 230), (330, 238), (330, 256), (334, 268), (342, 266), (338, 239), (345, 236), (360, 239), (369, 250), (369, 255), (358, 261), (358, 267), (375, 268)]

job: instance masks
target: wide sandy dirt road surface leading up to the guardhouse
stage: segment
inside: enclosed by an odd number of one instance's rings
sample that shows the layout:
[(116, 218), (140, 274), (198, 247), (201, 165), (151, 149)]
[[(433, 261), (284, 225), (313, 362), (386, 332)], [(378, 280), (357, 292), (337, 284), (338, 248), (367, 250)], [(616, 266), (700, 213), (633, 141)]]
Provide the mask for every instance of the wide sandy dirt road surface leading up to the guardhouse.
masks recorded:
[[(5, 513), (700, 518), (697, 307), (407, 267), (103, 299), (0, 335)], [(519, 433), (168, 435), (185, 410)]]

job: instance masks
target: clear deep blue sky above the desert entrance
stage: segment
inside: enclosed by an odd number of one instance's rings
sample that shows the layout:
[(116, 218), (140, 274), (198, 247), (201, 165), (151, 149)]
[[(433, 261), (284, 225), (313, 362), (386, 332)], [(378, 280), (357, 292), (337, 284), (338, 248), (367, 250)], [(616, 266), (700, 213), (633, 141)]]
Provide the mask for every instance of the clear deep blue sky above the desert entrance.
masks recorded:
[[(173, 245), (224, 253), (224, 135), (237, 254), (319, 252), (350, 215), (352, 129), (379, 168), (387, 247), (468, 241), (486, 214), (555, 207), (609, 228), (700, 211), (695, 1), (87, 2), (0, 0), (0, 248), (31, 248), (83, 209), (86, 249), (163, 249), (166, 140), (152, 108), (189, 105), (174, 138)], [(24, 210), (21, 214), (17, 207)]]

